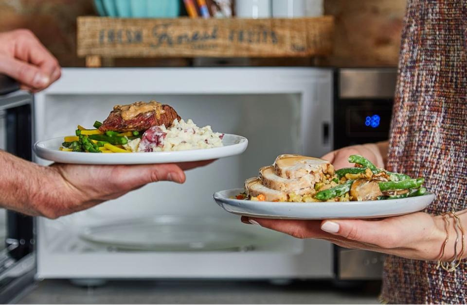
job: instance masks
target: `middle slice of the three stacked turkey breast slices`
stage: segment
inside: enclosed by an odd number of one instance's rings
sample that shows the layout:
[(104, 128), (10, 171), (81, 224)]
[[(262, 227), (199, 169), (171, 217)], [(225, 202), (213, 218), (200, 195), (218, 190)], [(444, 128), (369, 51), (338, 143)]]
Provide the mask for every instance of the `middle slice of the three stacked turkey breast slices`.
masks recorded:
[(259, 169), (259, 178), (263, 186), (268, 188), (287, 193), (294, 192), (298, 195), (305, 195), (313, 190), (315, 183), (320, 181), (321, 175), (309, 173), (300, 178), (287, 179), (276, 175), (273, 166), (266, 166)]

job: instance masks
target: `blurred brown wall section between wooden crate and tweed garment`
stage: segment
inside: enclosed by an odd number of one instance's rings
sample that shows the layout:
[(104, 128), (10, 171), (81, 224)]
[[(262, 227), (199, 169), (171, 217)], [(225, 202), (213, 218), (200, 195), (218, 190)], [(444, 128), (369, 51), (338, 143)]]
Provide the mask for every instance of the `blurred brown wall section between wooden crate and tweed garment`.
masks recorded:
[(335, 17), (334, 45), (323, 66), (396, 67), (407, 0), (325, 0)]

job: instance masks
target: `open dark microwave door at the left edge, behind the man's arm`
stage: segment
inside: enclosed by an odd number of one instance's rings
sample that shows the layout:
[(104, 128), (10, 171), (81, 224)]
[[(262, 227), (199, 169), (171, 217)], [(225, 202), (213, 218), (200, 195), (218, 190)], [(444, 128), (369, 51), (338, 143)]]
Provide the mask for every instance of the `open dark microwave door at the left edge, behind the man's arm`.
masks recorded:
[[(32, 160), (33, 96), (0, 78), (0, 149)], [(11, 302), (36, 274), (34, 219), (0, 209), (0, 302)]]

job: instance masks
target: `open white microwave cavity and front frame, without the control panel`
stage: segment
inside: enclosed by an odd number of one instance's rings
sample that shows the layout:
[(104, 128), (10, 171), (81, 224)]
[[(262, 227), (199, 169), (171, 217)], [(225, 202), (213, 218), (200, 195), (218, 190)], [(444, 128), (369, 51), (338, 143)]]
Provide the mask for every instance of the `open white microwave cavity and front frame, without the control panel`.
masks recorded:
[[(65, 68), (35, 96), (36, 140), (92, 126), (115, 104), (157, 100), (246, 136), (245, 153), (90, 210), (37, 219), (37, 278), (332, 278), (333, 248), (246, 225), (212, 199), (281, 153), (332, 149), (330, 68)], [(36, 157), (42, 165), (49, 162)]]

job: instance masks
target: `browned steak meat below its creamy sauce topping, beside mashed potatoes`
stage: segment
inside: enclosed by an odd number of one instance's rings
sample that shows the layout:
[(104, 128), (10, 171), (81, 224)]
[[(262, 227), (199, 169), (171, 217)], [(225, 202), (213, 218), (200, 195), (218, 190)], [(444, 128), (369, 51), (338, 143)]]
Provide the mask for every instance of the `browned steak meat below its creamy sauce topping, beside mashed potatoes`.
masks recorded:
[(146, 111), (136, 114), (130, 119), (124, 119), (122, 117), (122, 108), (120, 106), (114, 107), (114, 110), (110, 112), (108, 118), (104, 120), (99, 130), (106, 132), (112, 131), (145, 131), (152, 126), (165, 125), (166, 128), (170, 127), (174, 119), (179, 119), (180, 116), (169, 105), (162, 105), (162, 111)]

